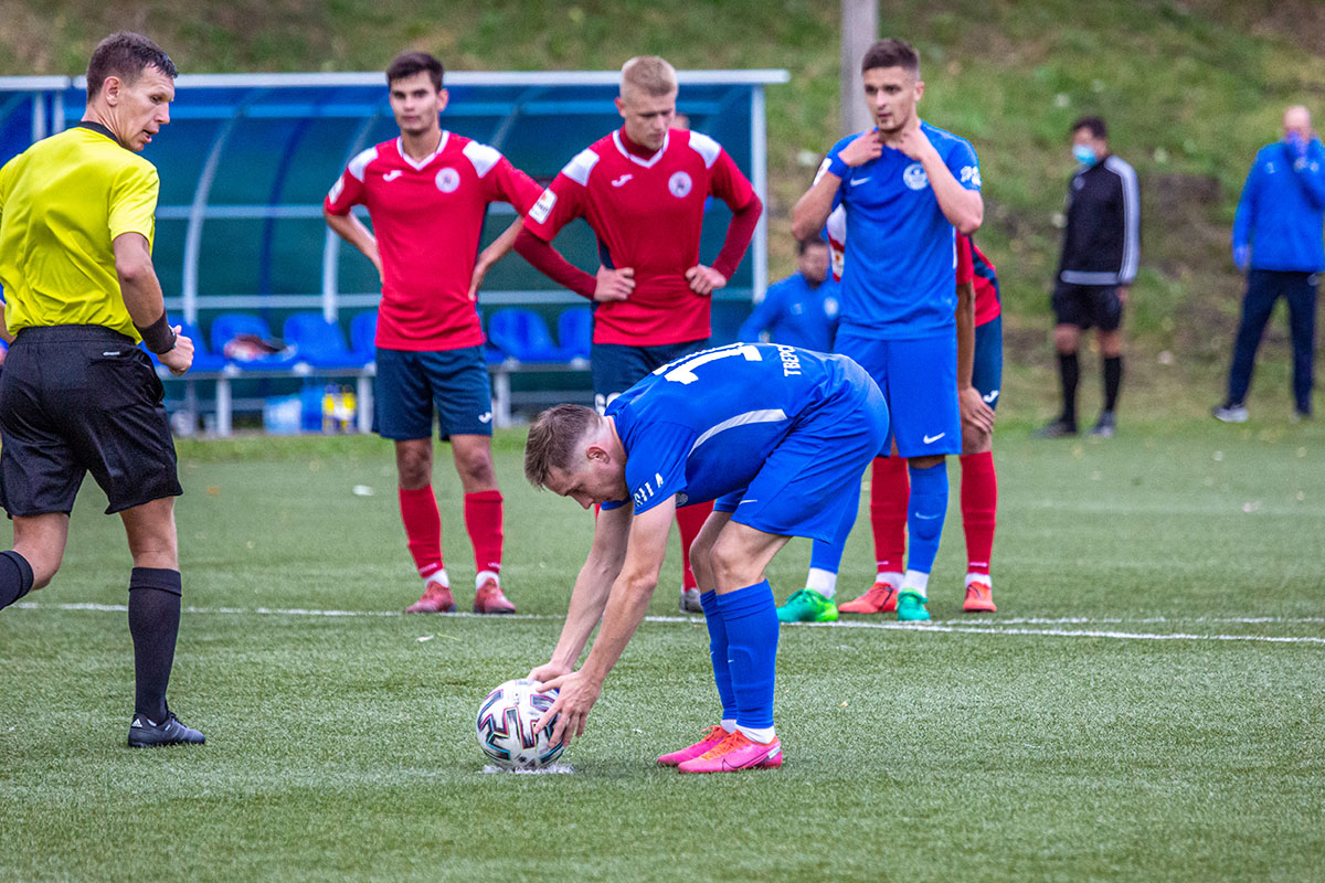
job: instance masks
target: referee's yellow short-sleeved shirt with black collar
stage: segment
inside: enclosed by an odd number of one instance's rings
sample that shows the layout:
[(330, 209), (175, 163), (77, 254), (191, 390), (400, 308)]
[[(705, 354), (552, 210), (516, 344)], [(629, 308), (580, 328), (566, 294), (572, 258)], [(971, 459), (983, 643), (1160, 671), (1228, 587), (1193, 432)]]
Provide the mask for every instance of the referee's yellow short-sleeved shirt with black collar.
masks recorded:
[(69, 128), (0, 168), (0, 285), (11, 334), (99, 324), (140, 340), (111, 242), (156, 229), (156, 168), (110, 135)]

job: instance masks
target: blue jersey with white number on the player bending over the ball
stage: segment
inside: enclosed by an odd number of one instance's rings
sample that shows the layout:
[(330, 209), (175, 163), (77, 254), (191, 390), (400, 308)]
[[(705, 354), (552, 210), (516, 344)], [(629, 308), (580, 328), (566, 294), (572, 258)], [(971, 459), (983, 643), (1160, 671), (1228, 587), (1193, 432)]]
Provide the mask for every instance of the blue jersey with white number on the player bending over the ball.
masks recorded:
[(798, 418), (859, 396), (861, 383), (868, 379), (847, 356), (771, 343), (735, 343), (662, 365), (606, 413), (625, 449), (635, 512), (749, 486)]

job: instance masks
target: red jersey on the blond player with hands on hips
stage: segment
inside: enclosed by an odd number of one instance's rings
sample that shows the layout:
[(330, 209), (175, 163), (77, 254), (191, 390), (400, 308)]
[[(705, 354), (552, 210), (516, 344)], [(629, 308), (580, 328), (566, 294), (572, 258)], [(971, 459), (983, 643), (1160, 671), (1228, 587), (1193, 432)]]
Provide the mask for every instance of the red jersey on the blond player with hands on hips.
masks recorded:
[(712, 334), (712, 298), (692, 291), (685, 271), (700, 262), (709, 195), (733, 212), (754, 199), (750, 181), (716, 140), (673, 128), (653, 156), (641, 159), (625, 148), (617, 130), (566, 164), (529, 210), (525, 228), (551, 242), (583, 217), (598, 236), (603, 266), (635, 270), (629, 298), (596, 304), (595, 343), (702, 340)]

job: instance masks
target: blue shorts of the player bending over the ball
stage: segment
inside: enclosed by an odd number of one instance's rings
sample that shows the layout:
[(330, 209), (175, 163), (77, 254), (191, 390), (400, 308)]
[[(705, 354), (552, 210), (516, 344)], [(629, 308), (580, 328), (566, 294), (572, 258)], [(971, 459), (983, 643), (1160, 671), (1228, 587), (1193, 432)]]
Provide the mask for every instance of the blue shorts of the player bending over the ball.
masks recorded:
[(860, 506), (860, 478), (884, 453), (888, 402), (860, 365), (857, 383), (796, 418), (742, 490), (719, 496), (716, 512), (778, 536), (832, 540), (848, 508)]

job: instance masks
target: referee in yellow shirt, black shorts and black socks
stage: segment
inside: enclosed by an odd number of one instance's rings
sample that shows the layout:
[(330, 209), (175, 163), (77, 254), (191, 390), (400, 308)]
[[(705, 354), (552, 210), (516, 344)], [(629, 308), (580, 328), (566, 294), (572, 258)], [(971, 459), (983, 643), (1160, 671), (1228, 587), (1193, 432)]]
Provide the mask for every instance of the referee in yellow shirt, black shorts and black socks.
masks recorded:
[(129, 535), (134, 748), (203, 743), (166, 704), (179, 634), (175, 496), (182, 494), (163, 389), (142, 340), (176, 375), (193, 343), (171, 328), (152, 269), (160, 181), (138, 154), (170, 122), (175, 64), (115, 33), (87, 64), (82, 122), (0, 168), (0, 608), (50, 582), (89, 471)]

